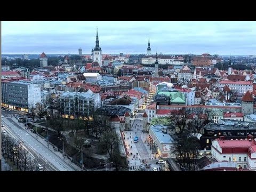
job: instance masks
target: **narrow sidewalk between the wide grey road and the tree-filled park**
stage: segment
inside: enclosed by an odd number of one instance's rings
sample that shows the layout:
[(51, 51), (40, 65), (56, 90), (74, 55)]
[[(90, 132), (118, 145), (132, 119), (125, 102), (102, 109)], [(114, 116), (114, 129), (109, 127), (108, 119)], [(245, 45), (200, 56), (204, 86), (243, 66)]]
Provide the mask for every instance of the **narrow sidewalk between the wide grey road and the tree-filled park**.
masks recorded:
[[(16, 119), (15, 117), (11, 117), (12, 121), (14, 121), (15, 123), (19, 124), (19, 126), (21, 126), (24, 130), (26, 130), (26, 126), (23, 123), (19, 123), (18, 119)], [(27, 130), (26, 130), (27, 131)], [(27, 133), (29, 133), (31, 136), (33, 136), (35, 139), (37, 139), (39, 142), (41, 142), (45, 147), (47, 147), (47, 141), (43, 138), (41, 138), (41, 136), (38, 134), (38, 137), (36, 138), (36, 134), (32, 133), (31, 131), (27, 131)], [(57, 148), (57, 147), (55, 147)], [(53, 145), (49, 142), (49, 149), (55, 154), (58, 155), (60, 158), (62, 158), (63, 161), (65, 161), (66, 163), (68, 163), (70, 166), (73, 166), (74, 169), (76, 169), (77, 171), (81, 171), (81, 167), (77, 166), (76, 164), (71, 162), (71, 159), (68, 159), (67, 157), (65, 157), (65, 159), (63, 159), (63, 155), (62, 153), (60, 153), (59, 151), (55, 151), (53, 148)]]

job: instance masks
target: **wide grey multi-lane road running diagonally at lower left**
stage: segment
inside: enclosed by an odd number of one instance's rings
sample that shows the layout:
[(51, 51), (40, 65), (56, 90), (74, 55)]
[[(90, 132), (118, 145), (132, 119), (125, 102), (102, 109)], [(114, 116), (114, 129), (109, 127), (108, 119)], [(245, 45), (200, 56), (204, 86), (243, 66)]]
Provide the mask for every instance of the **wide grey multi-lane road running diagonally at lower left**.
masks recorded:
[[(16, 140), (22, 140), (29, 151), (43, 161), (50, 171), (78, 171), (76, 166), (68, 164), (64, 159), (55, 154), (50, 148), (43, 145), (39, 139), (30, 135), (22, 126), (14, 121), (11, 113), (2, 110), (2, 122), (5, 125), (5, 130), (12, 135)], [(52, 146), (50, 146), (53, 148)]]

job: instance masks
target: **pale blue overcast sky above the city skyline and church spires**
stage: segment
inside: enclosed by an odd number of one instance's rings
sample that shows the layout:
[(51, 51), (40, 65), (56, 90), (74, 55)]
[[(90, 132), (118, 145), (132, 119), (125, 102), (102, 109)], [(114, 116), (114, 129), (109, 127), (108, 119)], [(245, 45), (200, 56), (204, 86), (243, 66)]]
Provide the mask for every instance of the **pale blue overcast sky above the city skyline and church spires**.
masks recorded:
[(256, 54), (256, 21), (2, 21), (2, 53)]

